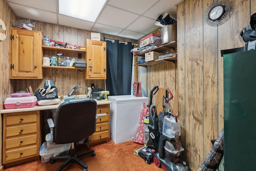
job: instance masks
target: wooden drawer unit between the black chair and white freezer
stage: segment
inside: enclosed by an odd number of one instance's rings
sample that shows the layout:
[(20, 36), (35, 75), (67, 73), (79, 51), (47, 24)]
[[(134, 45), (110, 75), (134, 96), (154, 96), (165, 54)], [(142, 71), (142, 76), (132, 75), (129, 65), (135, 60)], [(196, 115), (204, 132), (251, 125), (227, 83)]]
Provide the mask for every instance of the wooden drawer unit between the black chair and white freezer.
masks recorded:
[(97, 115), (98, 119), (96, 120), (96, 131), (90, 136), (91, 141), (89, 141), (89, 145), (108, 142), (108, 139), (110, 138), (110, 105), (98, 105)]

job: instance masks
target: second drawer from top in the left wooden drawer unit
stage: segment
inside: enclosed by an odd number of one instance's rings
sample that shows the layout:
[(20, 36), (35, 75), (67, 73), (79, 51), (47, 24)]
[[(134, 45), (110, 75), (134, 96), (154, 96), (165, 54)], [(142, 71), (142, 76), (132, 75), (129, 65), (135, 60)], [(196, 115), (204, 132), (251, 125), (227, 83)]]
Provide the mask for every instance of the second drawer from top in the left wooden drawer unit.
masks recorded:
[(9, 127), (6, 128), (6, 137), (14, 136), (14, 135), (24, 135), (27, 133), (36, 133), (36, 124), (24, 125), (18, 127)]

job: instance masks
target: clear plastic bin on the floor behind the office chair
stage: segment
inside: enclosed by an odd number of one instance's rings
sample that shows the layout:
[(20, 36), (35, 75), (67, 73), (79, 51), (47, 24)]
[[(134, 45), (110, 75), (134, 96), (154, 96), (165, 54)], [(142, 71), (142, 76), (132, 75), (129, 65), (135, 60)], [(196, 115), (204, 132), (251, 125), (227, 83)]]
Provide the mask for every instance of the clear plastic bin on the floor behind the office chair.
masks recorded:
[(71, 147), (71, 143), (67, 143), (67, 144), (58, 145), (56, 147), (48, 148), (47, 142), (44, 142), (40, 147), (40, 152), (39, 152), (42, 163), (46, 163), (50, 161), (50, 157), (58, 156), (60, 155), (60, 153), (62, 154), (64, 153), (65, 155), (68, 154), (68, 150), (70, 149), (70, 147)]

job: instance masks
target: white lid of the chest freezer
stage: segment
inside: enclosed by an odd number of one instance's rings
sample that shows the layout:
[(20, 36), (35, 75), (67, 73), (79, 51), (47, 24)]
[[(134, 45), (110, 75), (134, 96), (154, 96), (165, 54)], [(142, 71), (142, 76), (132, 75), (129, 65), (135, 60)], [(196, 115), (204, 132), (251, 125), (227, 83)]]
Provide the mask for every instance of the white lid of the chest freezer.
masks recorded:
[(134, 95), (112, 95), (108, 96), (112, 102), (132, 102), (132, 101), (148, 101), (148, 97), (136, 97)]

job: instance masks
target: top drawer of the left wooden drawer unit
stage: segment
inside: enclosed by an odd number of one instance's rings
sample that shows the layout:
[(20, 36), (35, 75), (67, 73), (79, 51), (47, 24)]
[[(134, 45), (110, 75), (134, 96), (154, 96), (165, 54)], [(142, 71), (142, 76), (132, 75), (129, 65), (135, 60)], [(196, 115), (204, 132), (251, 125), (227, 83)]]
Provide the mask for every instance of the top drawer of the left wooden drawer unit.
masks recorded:
[(29, 115), (16, 115), (16, 116), (7, 116), (6, 117), (6, 125), (13, 125), (19, 123), (29, 123), (36, 122), (37, 114), (29, 114)]

